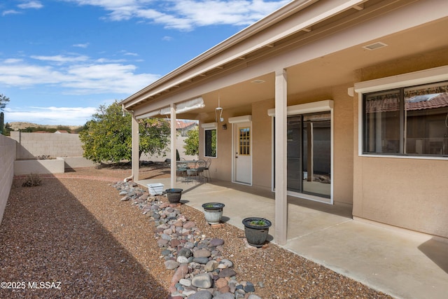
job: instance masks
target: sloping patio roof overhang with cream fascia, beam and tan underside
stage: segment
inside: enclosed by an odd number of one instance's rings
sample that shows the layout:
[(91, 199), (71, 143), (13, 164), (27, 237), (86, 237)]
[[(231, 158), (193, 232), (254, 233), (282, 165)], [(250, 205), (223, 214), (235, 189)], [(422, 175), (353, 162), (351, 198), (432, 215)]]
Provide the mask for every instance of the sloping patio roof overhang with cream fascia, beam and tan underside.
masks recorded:
[[(202, 96), (205, 108), (198, 111), (208, 113), (214, 111), (219, 94), (226, 101), (225, 108), (241, 105), (241, 90), (249, 104), (274, 97), (273, 72), (278, 68), (288, 69), (288, 81), (297, 78), (303, 82), (298, 87), (288, 86), (288, 94), (318, 88), (316, 81), (324, 77), (328, 83), (353, 81), (353, 70), (421, 51), (415, 46), (419, 36), (426, 40), (427, 48), (447, 47), (440, 39), (443, 35), (437, 34), (447, 28), (442, 9), (447, 4), (440, 0), (420, 2), (293, 1), (120, 104), (135, 116), (161, 116), (158, 110), (170, 104)], [(411, 30), (421, 24), (426, 25)], [(398, 32), (400, 35), (395, 35)], [(361, 47), (379, 37), (389, 45), (378, 51), (380, 54)], [(197, 119), (198, 111), (180, 117)]]

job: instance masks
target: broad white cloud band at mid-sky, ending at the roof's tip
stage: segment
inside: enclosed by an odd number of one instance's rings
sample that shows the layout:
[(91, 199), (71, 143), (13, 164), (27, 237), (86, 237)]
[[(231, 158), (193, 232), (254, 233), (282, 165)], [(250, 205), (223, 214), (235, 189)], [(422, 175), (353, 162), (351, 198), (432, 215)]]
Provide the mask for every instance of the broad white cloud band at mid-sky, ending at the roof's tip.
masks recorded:
[[(123, 93), (129, 95), (160, 78), (156, 74), (137, 74), (133, 64), (101, 63), (87, 57), (33, 56), (41, 64), (23, 60), (0, 61), (0, 85), (18, 88), (47, 87), (62, 94), (88, 95)], [(82, 59), (81, 59), (82, 58)], [(48, 65), (45, 62), (64, 62)]]

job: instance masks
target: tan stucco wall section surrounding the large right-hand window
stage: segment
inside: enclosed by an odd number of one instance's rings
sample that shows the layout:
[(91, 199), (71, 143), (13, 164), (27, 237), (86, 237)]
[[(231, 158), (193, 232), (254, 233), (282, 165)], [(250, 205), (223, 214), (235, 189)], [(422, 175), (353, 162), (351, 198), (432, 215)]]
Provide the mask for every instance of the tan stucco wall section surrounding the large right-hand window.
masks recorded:
[[(363, 69), (363, 80), (448, 64), (446, 49)], [(358, 155), (358, 95), (353, 111), (353, 216), (448, 237), (448, 160)]]

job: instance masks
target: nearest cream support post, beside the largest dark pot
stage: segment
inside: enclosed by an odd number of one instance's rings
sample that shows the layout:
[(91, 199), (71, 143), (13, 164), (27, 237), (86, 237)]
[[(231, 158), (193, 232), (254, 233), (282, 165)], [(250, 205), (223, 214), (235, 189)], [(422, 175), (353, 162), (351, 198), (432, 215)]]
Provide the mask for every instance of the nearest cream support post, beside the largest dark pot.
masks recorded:
[(286, 70), (275, 73), (275, 239), (286, 244), (288, 228), (286, 120), (287, 120)]

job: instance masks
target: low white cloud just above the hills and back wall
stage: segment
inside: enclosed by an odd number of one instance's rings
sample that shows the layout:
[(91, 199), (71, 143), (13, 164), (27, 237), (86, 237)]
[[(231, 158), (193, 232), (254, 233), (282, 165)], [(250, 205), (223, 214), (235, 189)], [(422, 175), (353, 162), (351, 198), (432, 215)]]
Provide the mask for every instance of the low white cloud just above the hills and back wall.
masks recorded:
[(24, 107), (5, 109), (8, 122), (27, 120), (45, 125), (83, 125), (97, 111), (94, 107)]

